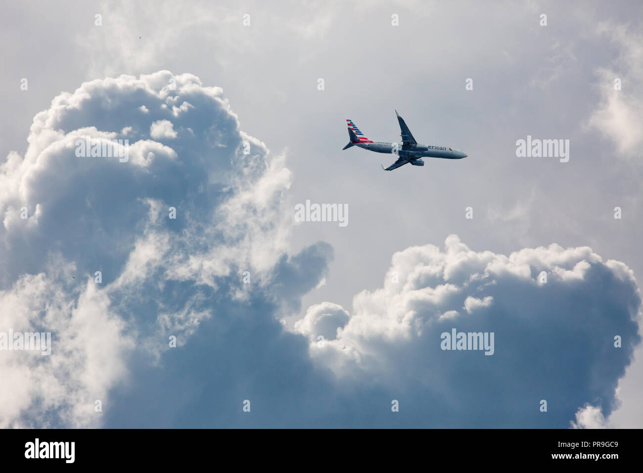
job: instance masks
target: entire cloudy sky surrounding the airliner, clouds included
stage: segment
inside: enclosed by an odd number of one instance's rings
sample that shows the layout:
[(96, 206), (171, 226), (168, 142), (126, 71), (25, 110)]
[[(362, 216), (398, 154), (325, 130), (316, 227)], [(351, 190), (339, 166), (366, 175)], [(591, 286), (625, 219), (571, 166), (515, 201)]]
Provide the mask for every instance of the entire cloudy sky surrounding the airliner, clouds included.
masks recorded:
[(1, 427), (643, 427), (640, 3), (1, 8)]

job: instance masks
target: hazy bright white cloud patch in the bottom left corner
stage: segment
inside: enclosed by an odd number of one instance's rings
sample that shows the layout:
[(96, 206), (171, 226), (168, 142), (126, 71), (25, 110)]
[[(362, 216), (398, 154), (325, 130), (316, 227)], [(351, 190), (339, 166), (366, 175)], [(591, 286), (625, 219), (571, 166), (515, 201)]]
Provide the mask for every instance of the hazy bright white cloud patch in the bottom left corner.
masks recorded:
[[(0, 427), (95, 424), (95, 402), (127, 371), (133, 339), (91, 280), (69, 287), (73, 265), (51, 261), (0, 291), (0, 331), (51, 333), (51, 353), (0, 352)], [(44, 339), (44, 337), (43, 337)]]

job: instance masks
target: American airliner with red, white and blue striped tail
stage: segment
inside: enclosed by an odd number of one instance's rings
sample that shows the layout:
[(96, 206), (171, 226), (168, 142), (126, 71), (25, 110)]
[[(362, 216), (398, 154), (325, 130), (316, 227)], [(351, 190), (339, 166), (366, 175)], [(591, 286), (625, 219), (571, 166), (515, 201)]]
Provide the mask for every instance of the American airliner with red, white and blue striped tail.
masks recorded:
[(464, 151), (453, 147), (418, 144), (415, 138), (413, 138), (408, 126), (404, 123), (404, 119), (397, 113), (397, 110), (395, 110), (395, 115), (397, 115), (397, 121), (402, 131), (402, 142), (390, 143), (369, 140), (365, 134), (359, 131), (359, 128), (355, 126), (352, 120), (346, 120), (346, 124), (349, 127), (350, 143), (343, 147), (342, 150), (349, 149), (351, 146), (358, 146), (368, 151), (375, 151), (376, 153), (397, 154), (397, 156), (399, 156), (397, 161), (389, 167), (385, 168), (382, 166), (384, 171), (393, 171), (406, 163), (411, 163), (413, 166), (424, 166), (424, 161), (420, 158), (461, 160), (467, 157)]

